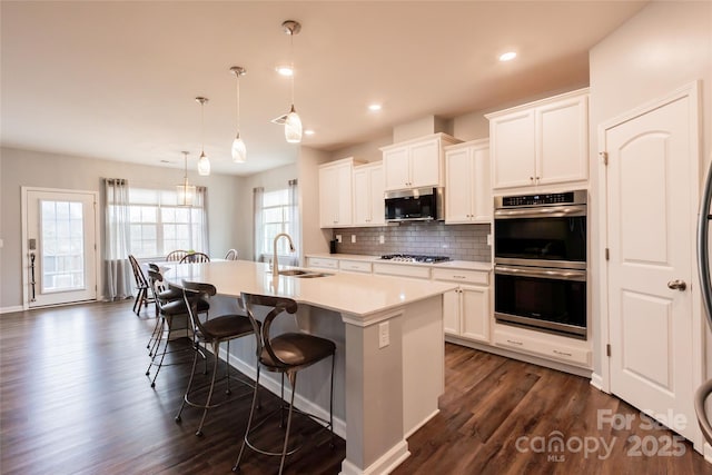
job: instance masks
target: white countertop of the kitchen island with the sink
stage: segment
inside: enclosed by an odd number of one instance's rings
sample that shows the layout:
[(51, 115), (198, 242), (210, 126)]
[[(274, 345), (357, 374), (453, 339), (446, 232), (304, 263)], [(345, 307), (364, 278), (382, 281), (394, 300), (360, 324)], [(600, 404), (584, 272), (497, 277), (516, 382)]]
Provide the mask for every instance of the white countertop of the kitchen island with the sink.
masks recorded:
[(161, 263), (166, 268), (164, 277), (177, 285), (184, 279), (209, 283), (224, 296), (238, 297), (243, 291), (279, 295), (293, 298), (299, 304), (363, 317), (441, 295), (457, 287), (456, 284), (433, 280), (352, 273), (329, 273), (327, 277), (317, 278), (278, 276), (275, 280), (268, 264), (249, 260), (172, 266), (170, 264), (172, 263)]

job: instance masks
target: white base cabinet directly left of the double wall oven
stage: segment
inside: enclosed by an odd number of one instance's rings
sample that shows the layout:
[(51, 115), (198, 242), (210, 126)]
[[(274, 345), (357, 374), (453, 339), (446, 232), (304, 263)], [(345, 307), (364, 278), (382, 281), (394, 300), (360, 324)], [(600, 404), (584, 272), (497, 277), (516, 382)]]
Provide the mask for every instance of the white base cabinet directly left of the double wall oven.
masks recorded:
[(490, 273), (435, 268), (433, 279), (462, 283), (443, 296), (445, 334), (490, 343)]

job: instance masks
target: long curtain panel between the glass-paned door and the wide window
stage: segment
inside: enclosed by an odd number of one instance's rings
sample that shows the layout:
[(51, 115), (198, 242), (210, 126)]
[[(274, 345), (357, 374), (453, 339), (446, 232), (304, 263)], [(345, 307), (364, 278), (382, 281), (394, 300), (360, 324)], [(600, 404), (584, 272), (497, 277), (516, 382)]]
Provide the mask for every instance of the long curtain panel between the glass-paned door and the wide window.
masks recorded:
[(131, 297), (132, 270), (129, 264), (129, 184), (105, 178), (105, 296), (108, 300)]

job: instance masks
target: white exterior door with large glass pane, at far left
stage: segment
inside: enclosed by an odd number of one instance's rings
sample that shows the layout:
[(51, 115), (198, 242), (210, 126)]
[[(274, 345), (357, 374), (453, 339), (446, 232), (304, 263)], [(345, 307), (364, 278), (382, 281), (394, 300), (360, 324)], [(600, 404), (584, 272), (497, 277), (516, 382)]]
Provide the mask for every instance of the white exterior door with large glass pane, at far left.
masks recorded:
[(24, 191), (28, 306), (96, 300), (96, 195)]

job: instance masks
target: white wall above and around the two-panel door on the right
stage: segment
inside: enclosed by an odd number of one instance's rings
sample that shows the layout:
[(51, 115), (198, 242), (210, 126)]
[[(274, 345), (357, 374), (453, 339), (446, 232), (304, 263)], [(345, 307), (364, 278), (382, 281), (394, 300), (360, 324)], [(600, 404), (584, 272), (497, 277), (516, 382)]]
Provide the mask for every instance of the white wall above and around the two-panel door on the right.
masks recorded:
[[(601, 244), (597, 227), (600, 178), (597, 175), (597, 126), (627, 110), (665, 96), (681, 86), (701, 79), (702, 147), (704, 178), (712, 151), (712, 2), (651, 2), (639, 14), (591, 50), (591, 190), (593, 240), (592, 275), (599, 276)], [(700, 184), (691, 184), (700, 186)], [(690, 236), (694, 240), (695, 236)], [(694, 246), (693, 246), (694, 248)], [(595, 349), (601, 345), (601, 289), (592, 283)], [(594, 370), (601, 373), (602, 357), (595, 353)]]

